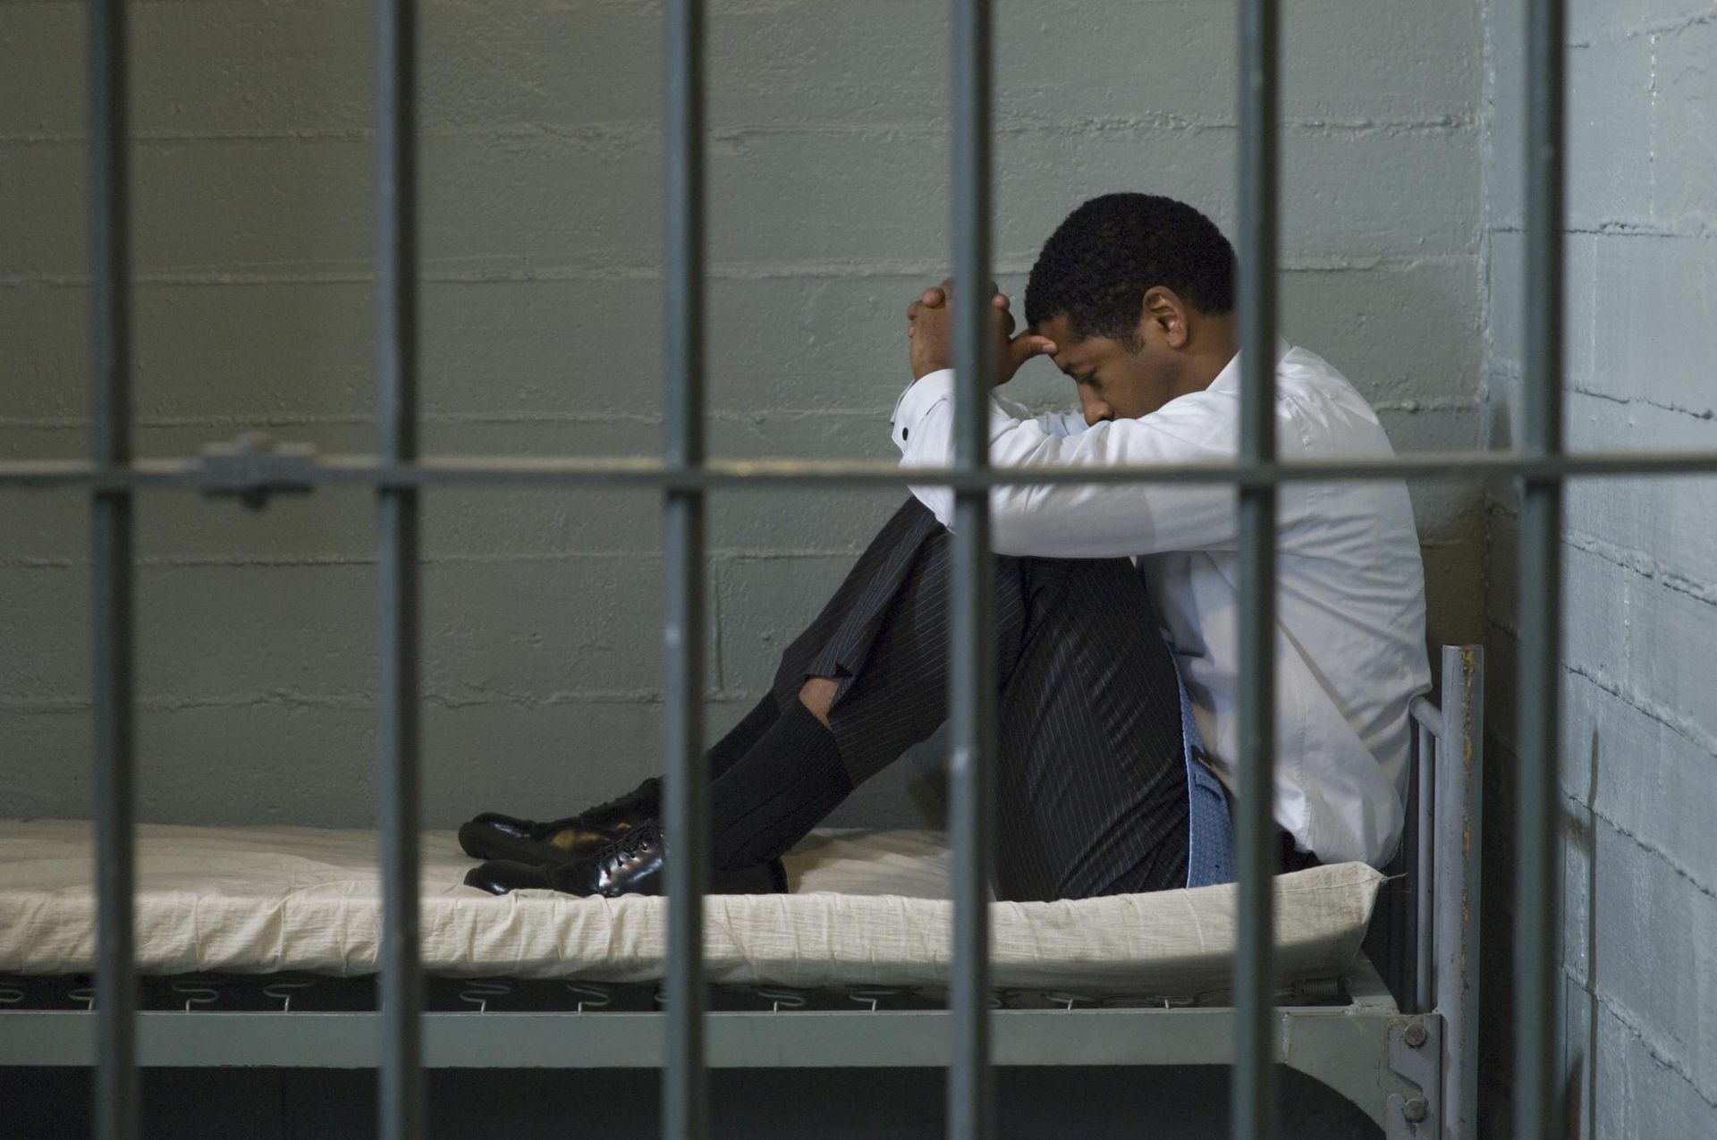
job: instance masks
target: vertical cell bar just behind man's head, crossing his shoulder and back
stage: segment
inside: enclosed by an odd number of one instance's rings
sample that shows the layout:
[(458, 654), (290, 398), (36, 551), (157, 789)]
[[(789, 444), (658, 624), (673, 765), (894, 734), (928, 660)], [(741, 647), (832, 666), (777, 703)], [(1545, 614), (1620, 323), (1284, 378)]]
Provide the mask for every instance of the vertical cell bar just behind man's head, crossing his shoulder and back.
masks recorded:
[[(1240, 7), (1240, 458), (1276, 458), (1277, 5)], [(1269, 1140), (1276, 1118), (1272, 828), (1276, 750), (1276, 484), (1240, 489), (1240, 1037), (1231, 1133)]]

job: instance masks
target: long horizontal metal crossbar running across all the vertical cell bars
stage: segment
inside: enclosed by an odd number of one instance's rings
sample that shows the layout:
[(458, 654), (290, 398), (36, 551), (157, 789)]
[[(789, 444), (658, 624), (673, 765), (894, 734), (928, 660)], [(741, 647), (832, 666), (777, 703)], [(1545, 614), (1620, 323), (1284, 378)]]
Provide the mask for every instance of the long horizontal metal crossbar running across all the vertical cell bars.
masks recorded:
[[(1269, 486), (1272, 482), (1353, 482), (1367, 479), (1604, 479), (1626, 476), (1712, 476), (1717, 452), (1578, 452), (1516, 455), (1511, 452), (1423, 452), (1410, 458), (1339, 460), (1324, 464), (1185, 464), (1176, 467), (951, 467), (901, 469), (886, 460), (707, 460), (673, 469), (649, 457), (440, 455), (412, 464), (388, 464), (373, 455), (325, 455), (295, 472), (297, 484), (328, 486), (455, 486), (455, 484), (585, 484), (668, 489), (737, 489), (793, 486), (986, 486), (1047, 484), (1204, 484)], [(137, 460), (103, 465), (89, 460), (0, 462), (0, 489), (232, 489), (230, 472), (209, 472), (196, 458)]]

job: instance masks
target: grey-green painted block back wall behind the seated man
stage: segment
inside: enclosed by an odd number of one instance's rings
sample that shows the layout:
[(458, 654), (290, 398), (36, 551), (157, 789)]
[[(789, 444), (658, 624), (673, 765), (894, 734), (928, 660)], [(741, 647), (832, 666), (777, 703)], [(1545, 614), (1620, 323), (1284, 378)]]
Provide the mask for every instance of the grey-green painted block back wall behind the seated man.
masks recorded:
[[(1480, 7), (1315, 0), (1286, 21), (1284, 331), (1399, 450), (1477, 431)], [(266, 429), (373, 448), (373, 17), (337, 0), (143, 0), (134, 24), (137, 441)], [(88, 446), (82, 5), (0, 3), (0, 455)], [(424, 445), (661, 445), (661, 10), (429, 0)], [(1235, 7), (999, 5), (999, 280), (1083, 197), (1235, 221)], [(946, 5), (711, 5), (711, 452), (891, 457), (903, 309), (948, 263)], [(1016, 386), (1071, 402), (1047, 362)], [(711, 508), (711, 728), (898, 498)], [(1415, 491), (1434, 637), (1480, 625), (1473, 489)], [(374, 819), (373, 505), (141, 496), (141, 814)], [(426, 821), (560, 812), (656, 769), (658, 503), (426, 498)], [(0, 814), (89, 810), (82, 500), (0, 496)], [(917, 819), (907, 773), (834, 822)]]

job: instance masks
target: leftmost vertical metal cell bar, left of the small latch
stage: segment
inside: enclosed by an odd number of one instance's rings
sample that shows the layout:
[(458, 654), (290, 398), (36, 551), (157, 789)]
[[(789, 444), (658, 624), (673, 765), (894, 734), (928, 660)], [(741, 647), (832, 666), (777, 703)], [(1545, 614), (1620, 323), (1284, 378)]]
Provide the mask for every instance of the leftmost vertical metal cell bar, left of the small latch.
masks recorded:
[[(89, 5), (91, 452), (130, 464), (130, 172), (125, 5)], [(132, 494), (91, 500), (94, 587), (96, 1135), (137, 1135), (132, 694)]]

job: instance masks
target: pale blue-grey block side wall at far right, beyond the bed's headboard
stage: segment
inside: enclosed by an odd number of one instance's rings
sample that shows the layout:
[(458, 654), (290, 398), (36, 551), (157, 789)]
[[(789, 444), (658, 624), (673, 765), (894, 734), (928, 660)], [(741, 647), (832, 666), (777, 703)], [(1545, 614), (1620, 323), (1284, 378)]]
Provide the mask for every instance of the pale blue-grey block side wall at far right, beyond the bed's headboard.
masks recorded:
[[(1717, 5), (1571, 5), (1568, 446), (1717, 448)], [(1485, 15), (1483, 424), (1520, 410), (1523, 15)], [(1487, 1135), (1508, 1135), (1516, 500), (1487, 498)], [(1574, 1137), (1717, 1135), (1717, 481), (1569, 486), (1564, 1061)]]

